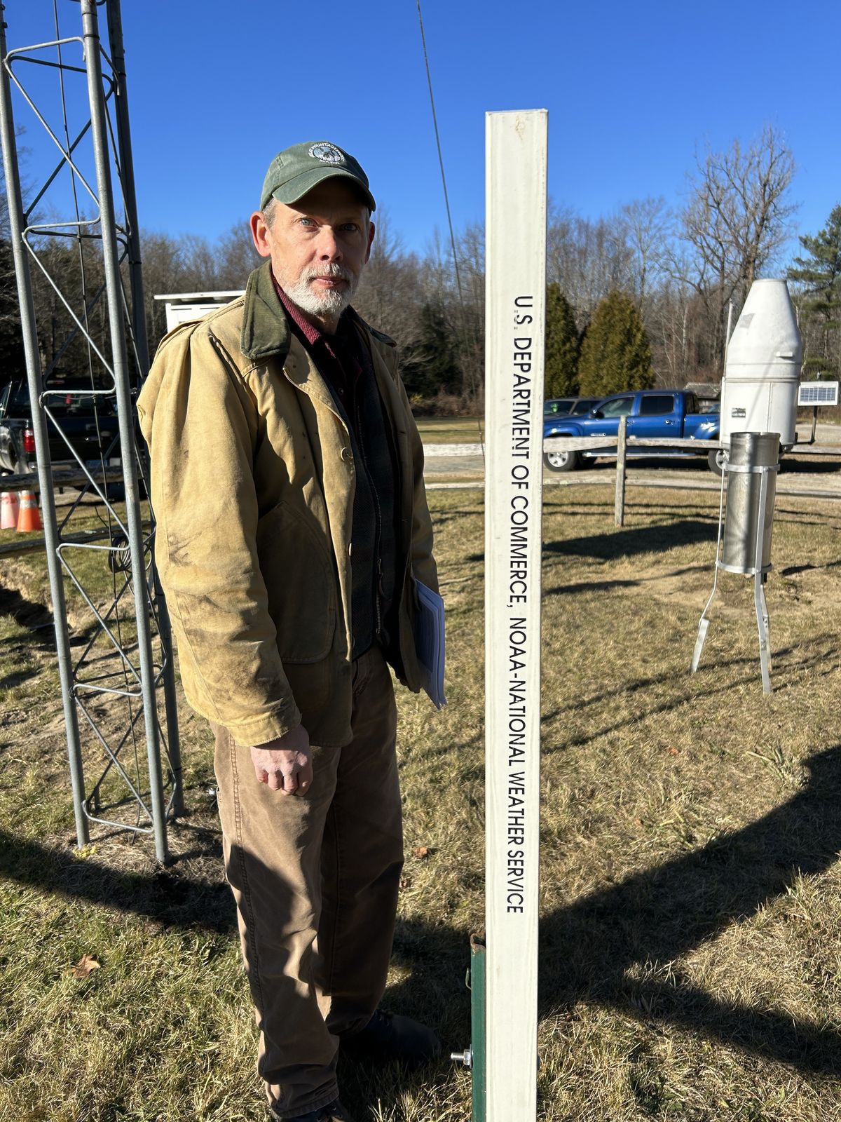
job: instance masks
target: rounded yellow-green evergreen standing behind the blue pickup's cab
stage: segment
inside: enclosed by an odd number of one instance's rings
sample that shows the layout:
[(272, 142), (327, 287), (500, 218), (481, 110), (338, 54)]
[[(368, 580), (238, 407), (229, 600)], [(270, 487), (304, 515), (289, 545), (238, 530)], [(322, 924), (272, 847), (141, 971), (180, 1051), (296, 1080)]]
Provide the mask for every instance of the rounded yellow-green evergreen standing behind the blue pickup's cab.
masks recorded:
[(648, 335), (625, 293), (608, 293), (595, 309), (581, 344), (579, 384), (582, 394), (593, 397), (654, 385)]

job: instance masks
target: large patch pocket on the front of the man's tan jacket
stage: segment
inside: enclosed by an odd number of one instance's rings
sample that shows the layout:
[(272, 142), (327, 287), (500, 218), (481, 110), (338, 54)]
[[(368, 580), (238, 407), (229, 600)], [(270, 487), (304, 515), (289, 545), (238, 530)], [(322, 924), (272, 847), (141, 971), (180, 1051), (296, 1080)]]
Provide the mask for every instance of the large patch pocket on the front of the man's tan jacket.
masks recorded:
[(332, 553), (312, 515), (278, 503), (257, 524), (257, 552), (284, 662), (321, 662), (333, 646)]

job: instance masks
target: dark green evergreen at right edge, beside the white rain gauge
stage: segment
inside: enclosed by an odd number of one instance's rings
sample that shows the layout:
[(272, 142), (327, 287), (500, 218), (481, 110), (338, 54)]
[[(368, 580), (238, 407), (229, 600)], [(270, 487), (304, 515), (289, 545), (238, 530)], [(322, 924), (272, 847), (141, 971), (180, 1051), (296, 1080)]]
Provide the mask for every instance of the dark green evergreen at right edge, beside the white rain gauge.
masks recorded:
[(795, 302), (805, 343), (804, 375), (841, 376), (841, 205), (814, 238), (801, 236), (808, 256), (795, 257), (788, 279), (800, 292)]

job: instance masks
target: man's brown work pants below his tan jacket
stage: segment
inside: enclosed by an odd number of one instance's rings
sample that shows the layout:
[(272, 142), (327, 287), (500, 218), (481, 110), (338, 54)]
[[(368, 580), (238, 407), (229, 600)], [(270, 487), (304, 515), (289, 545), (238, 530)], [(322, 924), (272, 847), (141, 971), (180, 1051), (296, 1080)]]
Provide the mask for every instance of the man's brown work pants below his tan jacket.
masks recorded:
[(258, 1069), (279, 1118), (336, 1097), (339, 1038), (364, 1028), (386, 986), (403, 829), (395, 697), (379, 647), (354, 664), (352, 727), (345, 747), (313, 747), (306, 795), (260, 783), (248, 748), (214, 727)]

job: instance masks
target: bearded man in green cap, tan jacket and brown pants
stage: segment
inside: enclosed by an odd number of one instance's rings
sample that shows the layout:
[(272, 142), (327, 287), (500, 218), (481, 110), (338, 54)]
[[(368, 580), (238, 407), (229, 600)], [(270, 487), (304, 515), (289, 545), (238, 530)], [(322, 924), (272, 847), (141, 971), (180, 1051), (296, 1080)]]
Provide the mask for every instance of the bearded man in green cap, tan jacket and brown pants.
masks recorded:
[(339, 1122), (338, 1050), (423, 1061), (378, 1010), (403, 864), (395, 699), (437, 588), (395, 344), (350, 307), (375, 200), (352, 156), (270, 164), (243, 297), (161, 342), (138, 403), (187, 700), (215, 733), (225, 871), (272, 1114)]

